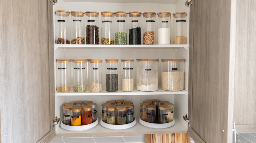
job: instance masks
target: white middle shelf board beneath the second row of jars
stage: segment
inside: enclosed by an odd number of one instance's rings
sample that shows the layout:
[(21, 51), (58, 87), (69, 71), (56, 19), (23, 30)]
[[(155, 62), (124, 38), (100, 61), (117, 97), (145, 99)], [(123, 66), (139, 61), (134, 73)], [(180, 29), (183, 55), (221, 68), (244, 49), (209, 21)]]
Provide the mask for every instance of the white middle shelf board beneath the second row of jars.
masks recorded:
[(188, 95), (188, 91), (166, 91), (162, 90), (161, 86), (157, 91), (139, 91), (134, 86), (134, 91), (131, 92), (123, 92), (121, 91), (121, 86), (118, 86), (118, 91), (116, 92), (107, 92), (106, 86), (103, 86), (103, 91), (101, 92), (90, 92), (90, 87), (87, 86), (86, 92), (74, 92), (73, 88), (69, 92), (55, 92), (55, 96), (95, 96), (95, 95), (174, 95), (174, 94), (185, 94)]

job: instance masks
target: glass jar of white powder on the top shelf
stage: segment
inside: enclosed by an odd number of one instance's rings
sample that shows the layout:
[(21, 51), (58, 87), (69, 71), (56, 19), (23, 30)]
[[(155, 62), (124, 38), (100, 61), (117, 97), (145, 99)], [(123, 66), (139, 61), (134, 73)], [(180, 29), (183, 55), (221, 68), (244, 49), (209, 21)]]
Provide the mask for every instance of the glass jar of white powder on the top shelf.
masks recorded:
[(159, 12), (158, 44), (171, 44), (171, 13)]

